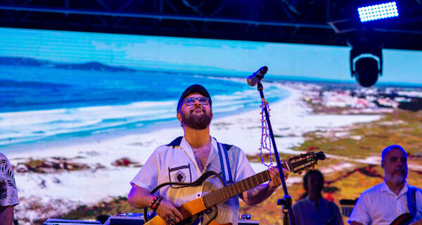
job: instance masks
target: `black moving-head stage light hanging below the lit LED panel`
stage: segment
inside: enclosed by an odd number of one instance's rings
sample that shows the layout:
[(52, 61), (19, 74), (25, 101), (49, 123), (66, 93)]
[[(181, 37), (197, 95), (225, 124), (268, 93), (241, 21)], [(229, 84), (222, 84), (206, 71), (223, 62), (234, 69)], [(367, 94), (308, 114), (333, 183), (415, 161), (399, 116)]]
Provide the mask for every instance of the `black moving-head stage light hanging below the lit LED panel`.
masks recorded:
[(361, 86), (369, 87), (375, 84), (378, 75), (383, 74), (381, 46), (353, 46), (350, 50), (350, 71)]

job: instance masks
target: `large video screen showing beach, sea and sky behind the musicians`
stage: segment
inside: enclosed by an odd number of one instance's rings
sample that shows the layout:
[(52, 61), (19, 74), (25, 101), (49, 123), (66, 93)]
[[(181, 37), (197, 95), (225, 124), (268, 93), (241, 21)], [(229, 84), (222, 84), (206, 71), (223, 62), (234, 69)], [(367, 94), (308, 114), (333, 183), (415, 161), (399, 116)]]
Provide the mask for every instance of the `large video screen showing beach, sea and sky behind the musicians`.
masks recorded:
[[(211, 136), (243, 149), (255, 172), (262, 152), (262, 84), (281, 160), (324, 151), (316, 169), (339, 205), (381, 183), (381, 150), (399, 144), (409, 184), (422, 184), (422, 53), (383, 49), (383, 76), (364, 89), (350, 76), (350, 47), (126, 34), (0, 29), (0, 152), (15, 173), (20, 224), (141, 212), (129, 182), (158, 146), (183, 136), (177, 102), (191, 84), (210, 92)], [(287, 180), (293, 200), (302, 175)], [(242, 214), (281, 224), (276, 199)], [(339, 205), (340, 207), (340, 205)], [(271, 214), (276, 216), (271, 216)], [(347, 217), (344, 217), (347, 219)]]

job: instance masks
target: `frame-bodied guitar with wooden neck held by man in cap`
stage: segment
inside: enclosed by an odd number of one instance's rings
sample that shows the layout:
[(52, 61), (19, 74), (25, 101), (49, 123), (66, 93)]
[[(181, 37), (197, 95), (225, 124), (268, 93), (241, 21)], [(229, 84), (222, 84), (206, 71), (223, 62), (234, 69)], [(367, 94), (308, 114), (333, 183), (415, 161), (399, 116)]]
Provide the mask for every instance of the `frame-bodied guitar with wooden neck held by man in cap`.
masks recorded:
[[(281, 165), (283, 168), (288, 169), (288, 171), (293, 173), (301, 174), (304, 170), (307, 171), (309, 168), (314, 168), (318, 160), (325, 160), (326, 156), (323, 152), (319, 153), (304, 153), (300, 155), (295, 155), (292, 158), (289, 158), (287, 162), (283, 162)], [(215, 172), (212, 172), (215, 175), (217, 175)], [(209, 173), (205, 172), (203, 175), (200, 176), (196, 181), (194, 181), (192, 184), (202, 184), (202, 182), (206, 179), (203, 178), (203, 176), (212, 176)], [(218, 175), (217, 175), (218, 176)], [(269, 171), (265, 170), (263, 172), (260, 172), (258, 174), (255, 174), (253, 176), (250, 176), (246, 179), (243, 179), (241, 181), (238, 181), (234, 184), (231, 184), (229, 186), (225, 186), (223, 188), (220, 188), (217, 191), (212, 191), (211, 193), (207, 193), (206, 195), (203, 195), (201, 198), (197, 198), (196, 200), (192, 200), (188, 203), (184, 203), (181, 205), (181, 207), (178, 207), (178, 210), (183, 215), (183, 221), (179, 222), (179, 224), (191, 224), (192, 217), (196, 214), (199, 214), (200, 212), (203, 212), (207, 209), (210, 209), (214, 207), (215, 213), (211, 216), (210, 221), (207, 221), (206, 224), (212, 224), (212, 225), (219, 225), (215, 219), (217, 217), (217, 207), (219, 203), (224, 203), (226, 200), (243, 193), (243, 191), (248, 191), (250, 188), (254, 188), (255, 186), (258, 186), (260, 184), (263, 184), (266, 181), (269, 181), (271, 177), (269, 176)], [(221, 180), (221, 179), (220, 179)], [(158, 187), (162, 187), (168, 184), (161, 184)], [(152, 193), (154, 193), (157, 189), (154, 188)], [(165, 225), (165, 221), (159, 217), (156, 216), (150, 221), (146, 222), (146, 225)], [(231, 224), (231, 223), (229, 223)], [(225, 224), (225, 225), (229, 225)]]

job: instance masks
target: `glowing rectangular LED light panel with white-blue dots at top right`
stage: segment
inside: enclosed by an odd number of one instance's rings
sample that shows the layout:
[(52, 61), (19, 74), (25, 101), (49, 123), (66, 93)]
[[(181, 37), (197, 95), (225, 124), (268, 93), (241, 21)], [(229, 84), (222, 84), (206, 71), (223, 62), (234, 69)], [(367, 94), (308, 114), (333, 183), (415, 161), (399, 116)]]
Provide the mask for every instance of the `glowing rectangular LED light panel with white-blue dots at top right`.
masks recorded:
[(357, 8), (362, 23), (399, 16), (395, 1)]

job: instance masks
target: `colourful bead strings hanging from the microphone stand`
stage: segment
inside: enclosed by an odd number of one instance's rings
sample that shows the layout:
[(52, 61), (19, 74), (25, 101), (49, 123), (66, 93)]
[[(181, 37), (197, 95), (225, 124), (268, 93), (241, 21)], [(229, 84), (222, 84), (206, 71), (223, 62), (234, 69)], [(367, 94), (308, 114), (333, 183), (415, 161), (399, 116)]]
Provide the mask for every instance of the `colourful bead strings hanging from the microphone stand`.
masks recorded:
[[(271, 167), (273, 165), (272, 152), (271, 152), (271, 138), (269, 136), (267, 119), (265, 118), (265, 112), (264, 112), (265, 107), (267, 107), (268, 114), (269, 114), (269, 111), (271, 110), (269, 108), (269, 102), (265, 100), (264, 98), (261, 98), (261, 105), (260, 105), (261, 113), (260, 114), (261, 114), (262, 132), (261, 132), (261, 148), (258, 148), (258, 150), (260, 150), (261, 163), (267, 167)], [(264, 162), (264, 155), (262, 155), (262, 150), (269, 151), (269, 164), (266, 164)]]

